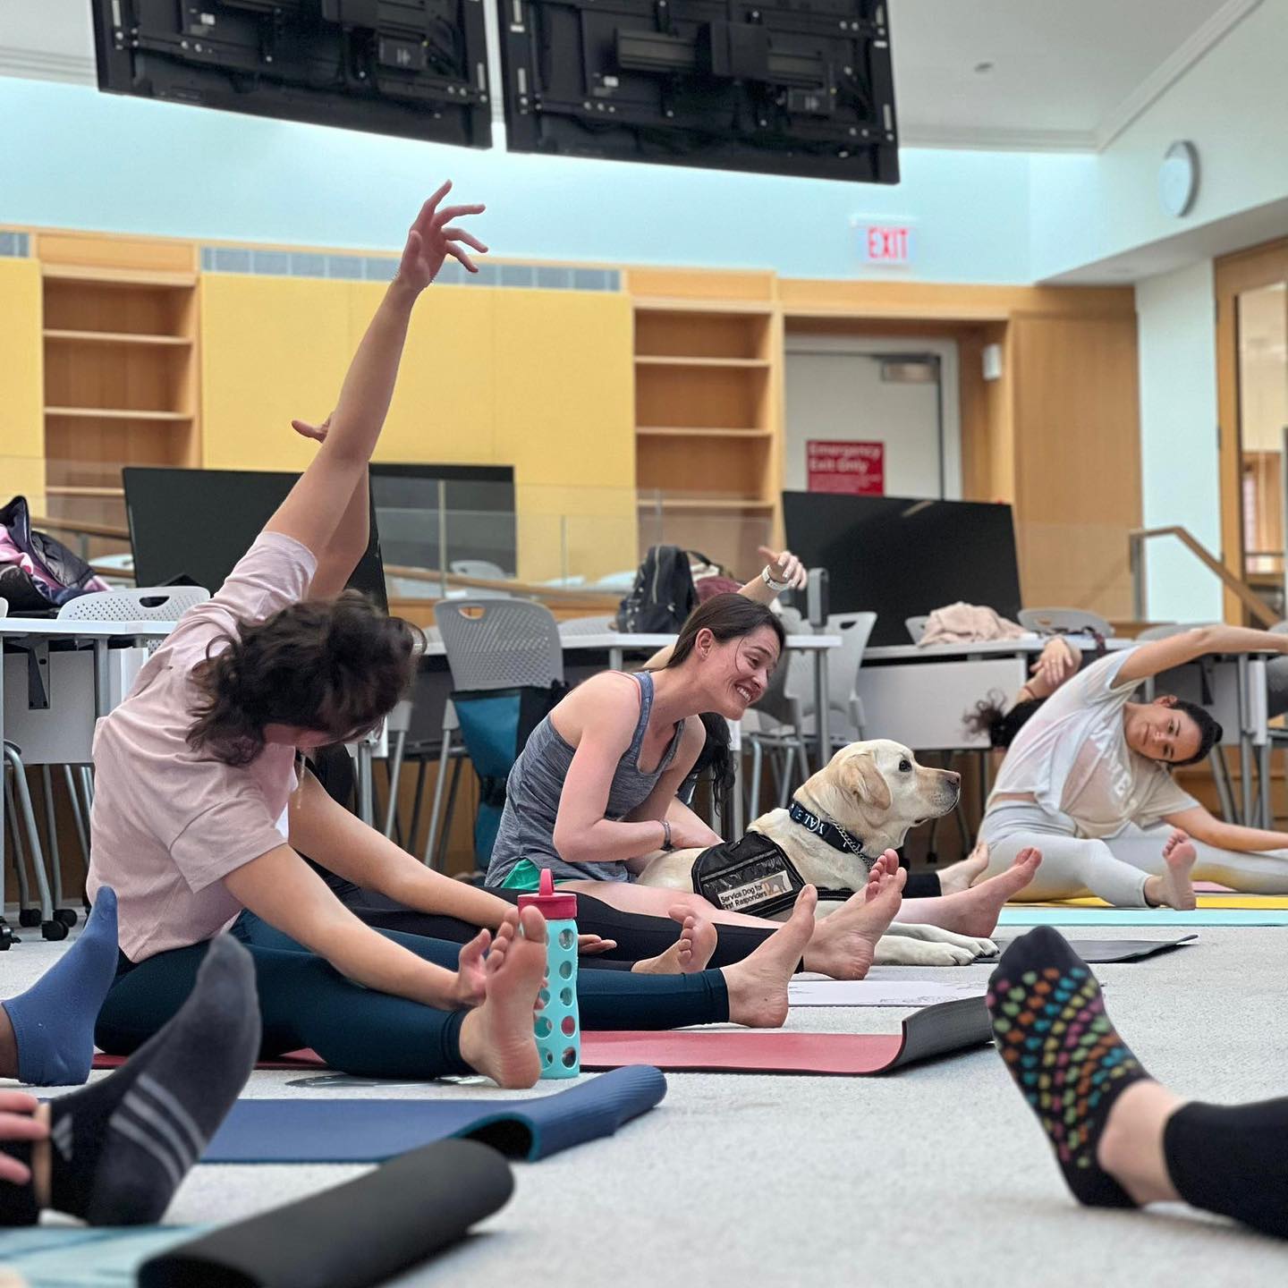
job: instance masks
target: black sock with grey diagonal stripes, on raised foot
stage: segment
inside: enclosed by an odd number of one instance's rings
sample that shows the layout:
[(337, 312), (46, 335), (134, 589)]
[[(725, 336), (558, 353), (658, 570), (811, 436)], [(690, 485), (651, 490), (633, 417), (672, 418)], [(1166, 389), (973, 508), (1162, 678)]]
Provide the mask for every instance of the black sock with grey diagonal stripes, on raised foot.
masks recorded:
[(158, 1221), (259, 1051), (250, 953), (213, 940), (188, 999), (112, 1077), (52, 1101), (50, 1202), (91, 1225)]

